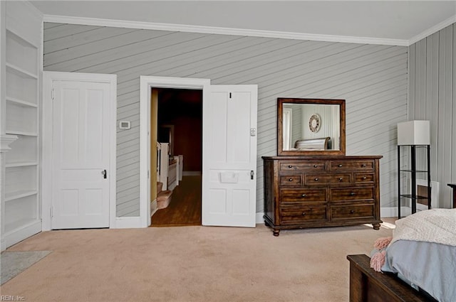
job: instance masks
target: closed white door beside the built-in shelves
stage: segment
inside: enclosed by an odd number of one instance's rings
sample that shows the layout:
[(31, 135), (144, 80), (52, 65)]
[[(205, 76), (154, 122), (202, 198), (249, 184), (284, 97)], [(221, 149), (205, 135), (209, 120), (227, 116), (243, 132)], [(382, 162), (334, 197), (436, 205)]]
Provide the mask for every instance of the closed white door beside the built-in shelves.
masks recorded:
[(110, 84), (54, 80), (52, 229), (109, 227)]

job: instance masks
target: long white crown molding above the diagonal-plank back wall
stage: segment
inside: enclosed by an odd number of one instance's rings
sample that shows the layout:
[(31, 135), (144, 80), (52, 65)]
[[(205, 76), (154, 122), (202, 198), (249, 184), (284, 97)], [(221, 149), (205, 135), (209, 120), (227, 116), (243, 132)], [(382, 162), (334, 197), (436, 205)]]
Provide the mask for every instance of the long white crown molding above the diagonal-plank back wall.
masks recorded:
[(191, 26), (183, 24), (150, 23), (139, 21), (112, 20), (103, 18), (83, 18), (73, 16), (44, 15), (44, 22), (70, 23), (91, 26), (112, 26), (122, 28), (152, 29), (156, 31), (182, 31), (190, 33), (211, 33), (219, 35), (251, 36), (264, 38), (284, 38), (294, 40), (326, 41), (341, 43), (361, 43), (379, 45), (408, 46), (407, 40), (383, 39), (354, 36), (316, 35), (311, 33), (290, 33), (285, 31), (260, 31), (252, 29), (222, 28), (212, 26)]

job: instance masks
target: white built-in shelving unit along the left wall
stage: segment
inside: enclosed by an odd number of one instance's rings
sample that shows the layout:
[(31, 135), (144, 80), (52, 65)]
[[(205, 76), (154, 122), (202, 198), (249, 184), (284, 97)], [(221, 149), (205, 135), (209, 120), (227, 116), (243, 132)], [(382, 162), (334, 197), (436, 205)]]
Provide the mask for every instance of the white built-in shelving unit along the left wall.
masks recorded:
[[(6, 3), (4, 134), (17, 136), (4, 160), (1, 237), (6, 247), (41, 232), (41, 15), (28, 4)], [(30, 18), (32, 16), (32, 18)], [(38, 27), (38, 30), (37, 30)], [(40, 36), (37, 36), (39, 34)], [(31, 38), (32, 37), (32, 38)], [(2, 247), (2, 249), (5, 247)]]

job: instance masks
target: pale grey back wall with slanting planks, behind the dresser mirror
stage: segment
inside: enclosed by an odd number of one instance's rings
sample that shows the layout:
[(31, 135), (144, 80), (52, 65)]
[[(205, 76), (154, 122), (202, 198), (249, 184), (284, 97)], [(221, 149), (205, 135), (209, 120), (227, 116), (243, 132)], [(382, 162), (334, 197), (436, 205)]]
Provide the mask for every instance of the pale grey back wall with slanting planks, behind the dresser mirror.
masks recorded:
[(347, 155), (382, 155), (381, 205), (395, 205), (395, 125), (407, 116), (408, 48), (46, 23), (44, 70), (118, 75), (117, 215), (139, 215), (139, 77), (257, 84), (261, 156), (276, 155), (277, 97), (346, 99)]

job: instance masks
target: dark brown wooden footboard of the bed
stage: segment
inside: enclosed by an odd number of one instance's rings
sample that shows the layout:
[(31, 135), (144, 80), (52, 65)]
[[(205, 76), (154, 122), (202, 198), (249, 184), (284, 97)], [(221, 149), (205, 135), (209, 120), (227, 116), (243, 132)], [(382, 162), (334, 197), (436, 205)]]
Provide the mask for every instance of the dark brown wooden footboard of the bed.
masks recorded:
[(371, 258), (364, 254), (348, 255), (350, 261), (350, 302), (430, 302), (426, 293), (416, 291), (395, 274), (371, 269)]

